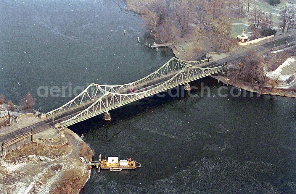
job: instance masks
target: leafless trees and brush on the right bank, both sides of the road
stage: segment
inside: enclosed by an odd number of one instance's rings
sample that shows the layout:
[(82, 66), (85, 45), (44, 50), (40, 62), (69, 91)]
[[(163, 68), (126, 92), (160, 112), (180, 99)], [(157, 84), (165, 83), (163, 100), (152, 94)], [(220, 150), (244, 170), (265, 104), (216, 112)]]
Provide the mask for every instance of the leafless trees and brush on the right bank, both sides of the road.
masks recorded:
[[(233, 53), (238, 46), (234, 37), (231, 36), (233, 25), (229, 21), (235, 20), (234, 18), (244, 18), (249, 21), (247, 23), (249, 23), (253, 32), (249, 35), (251, 40), (276, 33), (274, 29), (276, 24), (273, 22), (272, 14), (263, 12), (261, 8), (251, 4), (250, 0), (245, 2), (239, 0), (213, 0), (210, 2), (203, 0), (125, 1), (127, 10), (141, 15), (147, 32), (146, 35), (154, 38), (155, 41), (174, 42), (174, 45), (170, 47), (174, 55), (183, 60), (200, 60), (206, 53), (213, 51), (225, 54)], [(266, 4), (267, 2), (263, 3)], [(238, 7), (232, 5), (238, 5)], [(287, 9), (286, 4), (282, 6)], [(292, 6), (288, 5), (288, 8), (295, 11)], [(279, 23), (279, 25), (282, 24)], [(295, 25), (295, 22), (293, 25)], [(292, 47), (294, 44), (292, 44)], [(293, 74), (296, 74), (295, 69), (289, 80), (281, 80), (281, 74), (268, 76), (269, 72), (277, 69), (287, 58), (296, 56), (295, 48), (287, 51), (282, 50), (285, 49), (280, 48), (279, 53), (268, 52), (268, 56), (250, 51), (251, 57), (229, 65), (227, 77), (211, 77), (226, 82), (227, 85), (233, 85), (251, 92), (271, 96), (296, 97), (295, 87), (277, 87), (277, 85), (287, 84), (287, 81), (292, 83), (292, 78), (295, 78)], [(281, 60), (272, 60), (274, 58)], [(292, 65), (296, 66), (296, 64)]]

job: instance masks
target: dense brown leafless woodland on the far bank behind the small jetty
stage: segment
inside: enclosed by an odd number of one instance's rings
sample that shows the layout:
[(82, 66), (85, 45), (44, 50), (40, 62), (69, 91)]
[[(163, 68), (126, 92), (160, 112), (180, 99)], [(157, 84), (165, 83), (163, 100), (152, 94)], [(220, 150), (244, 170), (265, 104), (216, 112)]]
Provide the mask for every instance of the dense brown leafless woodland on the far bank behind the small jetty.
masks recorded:
[[(213, 50), (229, 50), (231, 26), (225, 6), (233, 0), (166, 0), (153, 1), (141, 11), (147, 34), (163, 41), (175, 41), (186, 34), (196, 39), (200, 51), (206, 36), (211, 38)], [(247, 1), (248, 2), (248, 1)]]

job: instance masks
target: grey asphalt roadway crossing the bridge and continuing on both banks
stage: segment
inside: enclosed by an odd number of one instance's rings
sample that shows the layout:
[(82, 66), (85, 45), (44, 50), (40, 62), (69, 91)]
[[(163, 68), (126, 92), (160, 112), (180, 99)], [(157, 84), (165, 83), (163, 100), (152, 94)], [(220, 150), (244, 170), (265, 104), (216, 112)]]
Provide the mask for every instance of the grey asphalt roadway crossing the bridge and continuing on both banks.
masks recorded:
[[(282, 35), (282, 36), (278, 36), (276, 38), (273, 39), (273, 41), (264, 41), (262, 45), (259, 44), (252, 44), (250, 46), (244, 47), (242, 49), (240, 49), (240, 52), (235, 53), (232, 56), (229, 56), (227, 58), (223, 58), (220, 59), (218, 61), (215, 62), (207, 62), (204, 65), (201, 65), (200, 67), (204, 67), (204, 68), (210, 68), (210, 67), (218, 67), (221, 66), (223, 63), (227, 62), (228, 64), (231, 64), (235, 61), (238, 61), (240, 58), (244, 57), (247, 55), (247, 51), (248, 50), (255, 50), (256, 52), (264, 52), (264, 51), (268, 51), (271, 49), (271, 47), (276, 47), (276, 46), (281, 46), (284, 45), (287, 42), (292, 42), (296, 40), (295, 37), (295, 32), (294, 33), (289, 33), (287, 35)], [(171, 73), (170, 75), (165, 75), (163, 77), (160, 77), (160, 79), (157, 80), (152, 80), (152, 81), (148, 81), (142, 84), (137, 85), (137, 87), (135, 87), (135, 91), (134, 92), (139, 92), (143, 89), (147, 89), (150, 88), (152, 85), (160, 85), (161, 83), (164, 83), (166, 80), (170, 79), (171, 77), (173, 77), (177, 72)], [(127, 93), (128, 90), (130, 88), (126, 89), (126, 90), (122, 90), (120, 91), (120, 93)], [(65, 121), (67, 119), (72, 118), (73, 116), (77, 115), (78, 113), (80, 113), (81, 111), (83, 111), (84, 109), (86, 109), (87, 107), (89, 107), (93, 102), (93, 101), (88, 101), (86, 103), (84, 103), (83, 105), (80, 106), (75, 106), (73, 109), (69, 109), (67, 111), (63, 111), (59, 114), (55, 114), (54, 117), (54, 123), (59, 123), (62, 121)], [(14, 137), (26, 133), (26, 132), (30, 132), (31, 129), (33, 127), (33, 132), (37, 133), (37, 132), (41, 132), (42, 130), (45, 130), (49, 127), (52, 127), (52, 116), (47, 117), (46, 119), (41, 120), (38, 123), (35, 123), (33, 125), (30, 125), (28, 127), (24, 127), (20, 130), (17, 130), (15, 132), (11, 132), (9, 134), (4, 134), (0, 136), (0, 142), (2, 143), (3, 141), (9, 141), (11, 139), (13, 139)]]

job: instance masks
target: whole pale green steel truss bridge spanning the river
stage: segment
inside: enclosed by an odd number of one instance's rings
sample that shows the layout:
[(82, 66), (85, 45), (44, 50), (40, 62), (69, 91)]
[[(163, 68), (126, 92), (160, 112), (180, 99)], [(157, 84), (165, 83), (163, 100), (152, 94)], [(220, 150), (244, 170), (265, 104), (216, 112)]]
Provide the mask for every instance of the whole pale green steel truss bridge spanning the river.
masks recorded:
[[(47, 112), (46, 118), (58, 118), (56, 128), (67, 127), (102, 113), (105, 120), (110, 120), (109, 110), (178, 85), (184, 84), (184, 89), (190, 90), (189, 82), (223, 71), (223, 65), (219, 64), (205, 67), (207, 62), (208, 59), (184, 61), (173, 57), (155, 72), (135, 82), (123, 85), (91, 83), (71, 101)], [(134, 91), (130, 92), (130, 89)]]

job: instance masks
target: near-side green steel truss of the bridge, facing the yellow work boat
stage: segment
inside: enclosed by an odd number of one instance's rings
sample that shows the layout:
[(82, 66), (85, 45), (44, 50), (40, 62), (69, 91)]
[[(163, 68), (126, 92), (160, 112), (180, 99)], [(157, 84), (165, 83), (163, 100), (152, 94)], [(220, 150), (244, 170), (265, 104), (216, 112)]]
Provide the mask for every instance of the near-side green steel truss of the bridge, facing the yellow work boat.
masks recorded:
[(190, 81), (212, 75), (223, 70), (223, 66), (215, 67), (215, 68), (201, 68), (195, 67), (190, 64), (182, 69), (178, 74), (174, 75), (169, 80), (165, 81), (164, 83), (157, 85), (153, 88), (148, 90), (139, 92), (139, 93), (114, 93), (114, 92), (107, 92), (104, 96), (98, 98), (91, 106), (89, 106), (84, 111), (80, 112), (76, 116), (67, 119), (64, 122), (61, 122), (62, 127), (67, 127), (69, 125), (73, 125), (77, 122), (86, 120), (88, 118), (94, 117), (98, 114), (106, 112), (111, 109), (118, 108), (125, 104), (131, 103), (133, 101), (139, 100), (141, 98), (145, 98), (148, 96), (152, 96), (155, 93), (159, 93), (170, 88), (174, 88), (178, 85), (188, 83)]

